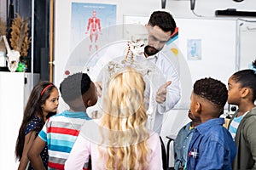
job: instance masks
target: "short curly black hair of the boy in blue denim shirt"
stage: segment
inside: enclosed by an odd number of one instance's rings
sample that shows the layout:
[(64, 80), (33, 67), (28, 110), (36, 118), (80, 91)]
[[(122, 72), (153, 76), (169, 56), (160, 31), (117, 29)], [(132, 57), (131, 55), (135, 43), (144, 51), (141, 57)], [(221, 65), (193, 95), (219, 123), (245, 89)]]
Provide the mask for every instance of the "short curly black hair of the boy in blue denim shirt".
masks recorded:
[(211, 77), (197, 80), (193, 92), (201, 98), (209, 100), (219, 109), (224, 109), (228, 99), (228, 90), (225, 84)]

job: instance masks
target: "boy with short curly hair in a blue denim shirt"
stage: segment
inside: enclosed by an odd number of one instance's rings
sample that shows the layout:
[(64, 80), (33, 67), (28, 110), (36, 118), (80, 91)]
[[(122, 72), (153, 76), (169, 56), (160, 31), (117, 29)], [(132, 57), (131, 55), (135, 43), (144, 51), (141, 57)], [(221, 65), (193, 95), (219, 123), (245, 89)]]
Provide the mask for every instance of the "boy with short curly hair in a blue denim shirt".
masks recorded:
[(197, 117), (200, 124), (189, 143), (186, 169), (232, 169), (236, 144), (223, 127), (224, 118), (219, 118), (227, 99), (223, 82), (211, 77), (195, 82), (189, 115)]

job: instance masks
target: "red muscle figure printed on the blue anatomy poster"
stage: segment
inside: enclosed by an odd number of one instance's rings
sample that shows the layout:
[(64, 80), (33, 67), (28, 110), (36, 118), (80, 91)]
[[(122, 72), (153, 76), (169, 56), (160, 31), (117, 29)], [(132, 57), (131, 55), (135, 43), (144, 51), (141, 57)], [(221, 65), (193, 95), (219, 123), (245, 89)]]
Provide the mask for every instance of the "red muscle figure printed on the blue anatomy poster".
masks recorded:
[(88, 33), (90, 30), (90, 46), (89, 50), (91, 51), (92, 44), (95, 44), (96, 50), (98, 49), (98, 46), (96, 44), (97, 39), (98, 39), (98, 31), (101, 31), (101, 20), (96, 18), (96, 11), (92, 11), (92, 17), (88, 21), (87, 25), (87, 31), (85, 34)]

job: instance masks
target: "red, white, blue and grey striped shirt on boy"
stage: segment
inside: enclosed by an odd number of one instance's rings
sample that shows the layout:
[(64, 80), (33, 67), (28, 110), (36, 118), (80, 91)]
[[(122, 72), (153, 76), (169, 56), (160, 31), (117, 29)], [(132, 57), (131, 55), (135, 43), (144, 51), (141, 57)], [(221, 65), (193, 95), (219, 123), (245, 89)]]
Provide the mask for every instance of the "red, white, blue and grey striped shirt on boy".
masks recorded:
[(38, 136), (48, 145), (48, 169), (64, 169), (80, 127), (90, 120), (85, 112), (63, 111), (51, 116)]

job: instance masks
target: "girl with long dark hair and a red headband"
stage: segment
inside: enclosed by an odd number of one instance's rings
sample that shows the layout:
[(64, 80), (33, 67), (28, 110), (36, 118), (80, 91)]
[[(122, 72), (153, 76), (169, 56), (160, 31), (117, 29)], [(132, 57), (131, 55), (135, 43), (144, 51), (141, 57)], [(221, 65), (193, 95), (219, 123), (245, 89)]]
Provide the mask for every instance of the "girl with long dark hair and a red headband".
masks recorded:
[[(55, 115), (59, 105), (59, 92), (51, 82), (39, 82), (27, 101), (16, 141), (15, 156), (19, 159), (18, 169), (33, 169), (27, 158), (27, 151), (44, 126), (49, 116)], [(44, 167), (47, 168), (47, 146), (41, 152)]]

